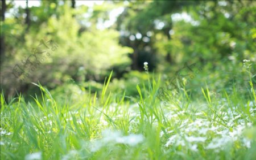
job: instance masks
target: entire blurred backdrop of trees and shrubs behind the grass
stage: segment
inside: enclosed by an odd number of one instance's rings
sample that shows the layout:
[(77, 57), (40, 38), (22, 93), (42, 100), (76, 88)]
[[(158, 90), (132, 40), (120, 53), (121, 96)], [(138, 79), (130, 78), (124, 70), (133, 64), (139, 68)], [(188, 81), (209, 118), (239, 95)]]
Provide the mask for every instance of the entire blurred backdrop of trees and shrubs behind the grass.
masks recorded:
[(135, 96), (148, 74), (166, 80), (185, 63), (202, 69), (191, 90), (246, 88), (255, 18), (255, 1), (1, 0), (1, 92), (95, 93), (113, 70), (109, 90)]

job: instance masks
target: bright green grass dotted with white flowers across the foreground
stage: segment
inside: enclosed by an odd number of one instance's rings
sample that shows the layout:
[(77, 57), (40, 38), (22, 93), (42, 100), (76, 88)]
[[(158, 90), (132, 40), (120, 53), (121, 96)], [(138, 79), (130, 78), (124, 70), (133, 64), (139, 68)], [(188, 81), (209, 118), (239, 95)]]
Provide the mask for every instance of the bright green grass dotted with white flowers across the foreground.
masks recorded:
[[(138, 97), (85, 93), (79, 101), (42, 95), (5, 102), (1, 94), (1, 159), (254, 159), (256, 97), (236, 87), (216, 96), (207, 85), (191, 99), (158, 98), (160, 77), (138, 84)], [(249, 95), (249, 96), (248, 96)], [(76, 95), (79, 96), (79, 95)], [(97, 98), (99, 97), (99, 98)], [(249, 97), (249, 98), (248, 98)]]

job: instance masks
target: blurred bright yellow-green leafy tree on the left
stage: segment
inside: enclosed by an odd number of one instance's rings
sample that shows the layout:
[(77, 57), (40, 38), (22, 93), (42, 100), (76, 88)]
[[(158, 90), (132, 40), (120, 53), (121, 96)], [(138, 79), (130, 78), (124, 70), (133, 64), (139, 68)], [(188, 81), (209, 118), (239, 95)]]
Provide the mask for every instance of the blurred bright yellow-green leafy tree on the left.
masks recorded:
[[(75, 12), (70, 10), (70, 3), (56, 4), (57, 1), (42, 1), (38, 7), (29, 7), (31, 22), (27, 32), (24, 32), (26, 26), (19, 23), (22, 20), (26, 21), (26, 16), (24, 18), (20, 16), (24, 10), (19, 9), (15, 14), (17, 18), (8, 18), (3, 24), (10, 26), (3, 29), (8, 35), (6, 46), (10, 51), (10, 59), (5, 60), (1, 67), (1, 77), (5, 77), (2, 83), (6, 93), (14, 94), (15, 90), (25, 92), (30, 89), (28, 88), (30, 82), (36, 83), (38, 80), (52, 89), (70, 80), (80, 80), (81, 83), (84, 80), (102, 82), (114, 66), (122, 66), (120, 68), (123, 70), (129, 70), (127, 68), (130, 66), (130, 59), (127, 53), (132, 50), (118, 45), (117, 31), (98, 30), (96, 25), (92, 25), (81, 32), (80, 21), (90, 19), (79, 19), (81, 17), (76, 18), (72, 15), (77, 12), (87, 12), (88, 8), (80, 7)], [(46, 10), (49, 12), (45, 14)], [(16, 41), (15, 38), (23, 33), (24, 41)], [(13, 40), (16, 44), (11, 42)], [(54, 51), (42, 49), (42, 51), (46, 50), (39, 55), (42, 62), (33, 71), (32, 67), (23, 68), (24, 73), (20, 77), (23, 77), (24, 81), (20, 82), (12, 73), (14, 66), (18, 64), (23, 67), (27, 58), (31, 57), (33, 49), (38, 47), (41, 41), (48, 40), (53, 40), (58, 48)], [(24, 77), (26, 74), (28, 76)]]

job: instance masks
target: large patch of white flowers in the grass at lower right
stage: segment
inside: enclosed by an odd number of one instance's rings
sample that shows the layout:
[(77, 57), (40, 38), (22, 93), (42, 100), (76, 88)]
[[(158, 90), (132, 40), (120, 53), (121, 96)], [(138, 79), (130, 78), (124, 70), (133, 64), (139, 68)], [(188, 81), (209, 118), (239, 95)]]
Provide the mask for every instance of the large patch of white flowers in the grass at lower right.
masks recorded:
[[(228, 106), (228, 103), (222, 102)], [(246, 107), (247, 105), (245, 105)], [(253, 108), (253, 102), (249, 103), (250, 114), (254, 115), (256, 109)], [(176, 129), (166, 128), (165, 131), (160, 133), (160, 136), (168, 136), (165, 144), (166, 148), (170, 146), (183, 146), (187, 149), (197, 152), (199, 146), (206, 150), (214, 150), (214, 152), (220, 152), (225, 149), (228, 144), (236, 144), (251, 148), (252, 137), (245, 136), (246, 127), (251, 127), (253, 122), (249, 120), (249, 116), (242, 117), (241, 113), (228, 109), (226, 111), (220, 111), (222, 115), (222, 123), (212, 123), (211, 120), (204, 118), (203, 112), (193, 113), (196, 118), (185, 119), (181, 123), (179, 120), (184, 114), (192, 114), (190, 111), (175, 111), (177, 108), (173, 108), (173, 111), (166, 114), (166, 117), (173, 122), (174, 126), (179, 126)], [(177, 122), (176, 122), (177, 121)], [(216, 119), (216, 122), (218, 120)], [(230, 129), (232, 128), (232, 129)], [(213, 137), (213, 138), (212, 138)]]

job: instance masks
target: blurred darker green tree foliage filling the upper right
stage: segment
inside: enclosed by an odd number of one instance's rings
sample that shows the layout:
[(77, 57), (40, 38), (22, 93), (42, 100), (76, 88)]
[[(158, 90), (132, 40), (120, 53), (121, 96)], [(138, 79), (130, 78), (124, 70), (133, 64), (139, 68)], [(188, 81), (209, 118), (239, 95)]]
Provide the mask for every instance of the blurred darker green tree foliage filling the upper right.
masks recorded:
[[(124, 33), (121, 44), (134, 49), (136, 70), (139, 51), (148, 45), (168, 63), (181, 57), (183, 62), (193, 57), (201, 63), (230, 55), (243, 59), (255, 53), (254, 17), (254, 1), (133, 1), (119, 16), (117, 29)], [(144, 42), (138, 33), (152, 36)]]

